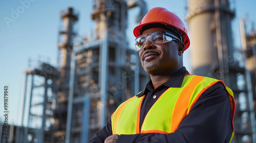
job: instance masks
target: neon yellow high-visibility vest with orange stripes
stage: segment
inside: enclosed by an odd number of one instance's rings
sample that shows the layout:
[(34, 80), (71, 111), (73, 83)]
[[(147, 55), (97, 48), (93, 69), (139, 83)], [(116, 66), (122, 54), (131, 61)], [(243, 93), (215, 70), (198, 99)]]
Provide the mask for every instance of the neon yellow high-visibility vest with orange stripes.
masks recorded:
[[(169, 88), (157, 99), (147, 112), (141, 131), (140, 107), (145, 95), (134, 96), (123, 102), (112, 114), (112, 132), (113, 134), (173, 133), (201, 94), (217, 82), (224, 84), (221, 80), (209, 77), (185, 75), (180, 88)], [(225, 88), (230, 99), (233, 128), (235, 110), (233, 92), (226, 86)], [(232, 137), (233, 133), (231, 139)]]

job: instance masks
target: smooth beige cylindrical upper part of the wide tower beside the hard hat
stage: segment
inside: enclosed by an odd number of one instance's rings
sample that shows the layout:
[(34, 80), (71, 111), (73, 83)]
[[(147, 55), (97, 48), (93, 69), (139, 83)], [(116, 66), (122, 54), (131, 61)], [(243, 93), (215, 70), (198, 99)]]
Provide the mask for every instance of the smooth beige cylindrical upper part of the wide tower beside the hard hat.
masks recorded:
[[(211, 76), (228, 68), (233, 58), (231, 19), (228, 1), (189, 0), (188, 29), (193, 74)], [(232, 60), (233, 61), (233, 60)], [(219, 79), (224, 78), (217, 77)], [(223, 79), (224, 80), (224, 79)]]

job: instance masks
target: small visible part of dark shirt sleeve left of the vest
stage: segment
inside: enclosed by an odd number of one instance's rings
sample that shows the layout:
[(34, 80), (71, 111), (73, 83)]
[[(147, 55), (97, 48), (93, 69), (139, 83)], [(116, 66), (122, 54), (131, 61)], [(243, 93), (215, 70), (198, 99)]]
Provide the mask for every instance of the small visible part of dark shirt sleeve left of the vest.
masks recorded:
[(90, 140), (90, 143), (103, 143), (104, 140), (112, 135), (112, 123), (111, 119), (106, 123), (106, 126), (104, 126), (99, 132), (97, 132), (93, 138)]

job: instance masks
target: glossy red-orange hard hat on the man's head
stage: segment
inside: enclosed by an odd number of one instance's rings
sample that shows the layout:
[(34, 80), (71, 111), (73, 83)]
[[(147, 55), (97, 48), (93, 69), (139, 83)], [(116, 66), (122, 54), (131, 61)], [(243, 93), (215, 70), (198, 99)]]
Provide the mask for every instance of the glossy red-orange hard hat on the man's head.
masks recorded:
[(161, 23), (163, 25), (176, 28), (177, 30), (179, 30), (179, 33), (183, 37), (182, 42), (185, 44), (184, 50), (186, 50), (189, 47), (190, 41), (187, 36), (187, 30), (182, 20), (176, 14), (161, 7), (153, 8), (147, 12), (147, 14), (143, 17), (139, 25), (134, 28), (134, 36), (141, 36), (142, 27), (152, 23)]

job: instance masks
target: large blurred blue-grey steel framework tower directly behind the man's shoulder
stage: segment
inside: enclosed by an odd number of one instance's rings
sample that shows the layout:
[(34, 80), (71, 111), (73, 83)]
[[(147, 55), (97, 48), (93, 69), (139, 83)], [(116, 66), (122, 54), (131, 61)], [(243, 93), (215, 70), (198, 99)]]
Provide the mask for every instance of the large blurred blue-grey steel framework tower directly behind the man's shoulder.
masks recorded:
[[(129, 49), (127, 10), (143, 1), (94, 1), (94, 34), (72, 53), (66, 142), (88, 142), (118, 105), (142, 90), (149, 78)], [(142, 17), (141, 15), (139, 15)]]

